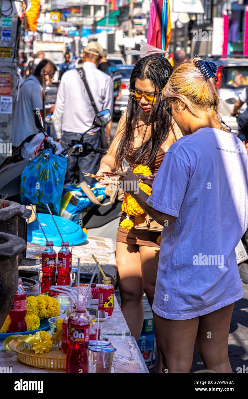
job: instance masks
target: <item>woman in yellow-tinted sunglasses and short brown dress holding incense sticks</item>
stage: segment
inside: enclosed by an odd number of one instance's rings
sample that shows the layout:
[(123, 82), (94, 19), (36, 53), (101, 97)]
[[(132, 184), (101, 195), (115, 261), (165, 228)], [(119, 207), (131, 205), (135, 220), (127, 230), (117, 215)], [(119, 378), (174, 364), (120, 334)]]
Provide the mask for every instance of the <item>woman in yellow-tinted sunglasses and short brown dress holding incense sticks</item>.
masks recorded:
[[(100, 172), (120, 170), (124, 158), (131, 170), (138, 165), (147, 165), (152, 174), (157, 172), (166, 150), (181, 135), (165, 111), (167, 99), (161, 99), (161, 91), (171, 73), (169, 61), (159, 55), (143, 57), (135, 64), (130, 78), (128, 107), (120, 119), (108, 154), (101, 160), (99, 175)], [(123, 219), (126, 219), (124, 212), (120, 222)], [(134, 227), (131, 230), (118, 228), (116, 261), (122, 312), (136, 340), (143, 325), (143, 292), (149, 304), (153, 303), (159, 235)]]

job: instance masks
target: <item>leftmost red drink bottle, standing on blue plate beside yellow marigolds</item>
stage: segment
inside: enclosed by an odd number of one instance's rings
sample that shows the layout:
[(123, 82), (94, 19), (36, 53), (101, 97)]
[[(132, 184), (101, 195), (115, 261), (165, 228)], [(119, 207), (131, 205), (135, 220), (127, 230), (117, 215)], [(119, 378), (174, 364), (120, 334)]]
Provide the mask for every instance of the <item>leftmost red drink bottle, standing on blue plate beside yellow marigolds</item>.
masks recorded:
[(25, 316), (27, 313), (27, 295), (22, 288), (22, 281), (18, 279), (17, 290), (15, 292), (14, 301), (9, 312), (10, 326), (9, 332), (27, 331)]

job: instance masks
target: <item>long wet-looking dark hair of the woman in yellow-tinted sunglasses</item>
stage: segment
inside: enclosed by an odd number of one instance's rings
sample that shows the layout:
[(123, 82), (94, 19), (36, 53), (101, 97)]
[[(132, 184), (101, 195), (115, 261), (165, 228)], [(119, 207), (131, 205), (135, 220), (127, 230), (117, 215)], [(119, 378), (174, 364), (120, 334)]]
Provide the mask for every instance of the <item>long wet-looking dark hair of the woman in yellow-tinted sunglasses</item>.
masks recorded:
[[(155, 159), (161, 144), (166, 140), (171, 117), (165, 112), (168, 100), (161, 99), (161, 91), (165, 87), (170, 75), (172, 67), (169, 61), (160, 55), (149, 55), (141, 58), (135, 65), (130, 77), (130, 88), (134, 89), (136, 79), (149, 79), (155, 87), (157, 101), (151, 108), (148, 122), (151, 123), (151, 137), (143, 142), (139, 148), (132, 151), (134, 144), (134, 128), (133, 124), (136, 119), (138, 103), (131, 96), (128, 99), (128, 107), (126, 111), (126, 121), (124, 123), (124, 133), (118, 145), (116, 152), (116, 169), (120, 168), (121, 163), (126, 155), (130, 155), (132, 164), (141, 163), (143, 165), (151, 165)], [(149, 153), (146, 161), (144, 156)]]

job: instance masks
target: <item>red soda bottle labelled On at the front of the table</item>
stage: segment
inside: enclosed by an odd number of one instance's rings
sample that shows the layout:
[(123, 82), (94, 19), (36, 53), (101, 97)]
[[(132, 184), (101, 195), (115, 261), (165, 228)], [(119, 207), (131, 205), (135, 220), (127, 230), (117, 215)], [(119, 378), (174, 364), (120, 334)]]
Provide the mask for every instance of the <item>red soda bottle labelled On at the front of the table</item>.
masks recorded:
[(82, 304), (70, 324), (70, 353), (66, 355), (67, 373), (88, 373), (89, 318)]

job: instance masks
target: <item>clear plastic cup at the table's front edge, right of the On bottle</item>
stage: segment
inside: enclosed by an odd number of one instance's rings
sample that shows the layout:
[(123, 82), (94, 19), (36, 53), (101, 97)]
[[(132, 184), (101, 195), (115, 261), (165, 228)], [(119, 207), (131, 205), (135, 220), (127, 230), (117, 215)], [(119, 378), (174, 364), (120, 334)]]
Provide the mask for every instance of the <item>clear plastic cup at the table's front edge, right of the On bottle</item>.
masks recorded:
[[(111, 373), (112, 361), (114, 357), (114, 352), (116, 348), (113, 348), (112, 345), (110, 346), (91, 346), (89, 350), (92, 353), (92, 372), (93, 373)], [(104, 363), (103, 363), (104, 357)]]

